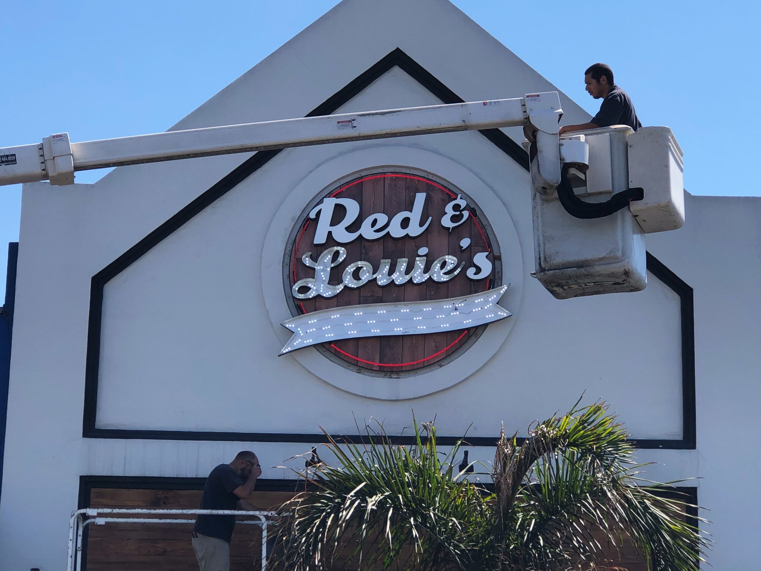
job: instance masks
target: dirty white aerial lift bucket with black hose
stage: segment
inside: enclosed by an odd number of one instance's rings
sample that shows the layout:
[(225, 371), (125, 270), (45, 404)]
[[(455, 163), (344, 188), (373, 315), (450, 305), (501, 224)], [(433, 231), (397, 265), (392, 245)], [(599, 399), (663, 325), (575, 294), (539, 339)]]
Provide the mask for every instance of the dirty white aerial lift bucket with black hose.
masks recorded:
[(682, 151), (671, 130), (568, 133), (559, 152), (561, 184), (535, 187), (532, 197), (533, 276), (559, 299), (645, 289), (645, 234), (684, 222)]

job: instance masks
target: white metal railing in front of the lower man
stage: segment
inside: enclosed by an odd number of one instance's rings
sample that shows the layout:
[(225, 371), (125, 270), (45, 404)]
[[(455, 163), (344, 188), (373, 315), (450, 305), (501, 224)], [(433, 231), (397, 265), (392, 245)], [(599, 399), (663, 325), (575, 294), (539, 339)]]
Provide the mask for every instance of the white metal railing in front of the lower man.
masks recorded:
[[(187, 518), (141, 518), (140, 515), (244, 515), (258, 518), (258, 521), (242, 520), (237, 523), (260, 525), (262, 528), (262, 571), (267, 566), (267, 525), (269, 518), (278, 518), (277, 512), (241, 512), (229, 509), (115, 509), (115, 508), (86, 508), (72, 513), (68, 522), (68, 558), (66, 571), (81, 571), (82, 538), (88, 525), (105, 525), (107, 523), (195, 523), (195, 519)], [(122, 517), (114, 517), (114, 516)], [(132, 517), (129, 517), (132, 516)], [(137, 516), (137, 517), (135, 517)]]

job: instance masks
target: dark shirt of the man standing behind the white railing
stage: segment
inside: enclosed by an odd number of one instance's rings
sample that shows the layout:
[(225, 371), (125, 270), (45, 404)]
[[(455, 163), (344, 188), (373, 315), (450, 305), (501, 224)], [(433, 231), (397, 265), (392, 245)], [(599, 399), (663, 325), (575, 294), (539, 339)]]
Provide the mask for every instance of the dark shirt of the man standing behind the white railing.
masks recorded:
[[(201, 509), (235, 509), (240, 498), (233, 490), (240, 486), (243, 486), (240, 476), (228, 464), (219, 464), (206, 478), (201, 496)], [(230, 543), (234, 527), (234, 515), (199, 514), (193, 531)]]

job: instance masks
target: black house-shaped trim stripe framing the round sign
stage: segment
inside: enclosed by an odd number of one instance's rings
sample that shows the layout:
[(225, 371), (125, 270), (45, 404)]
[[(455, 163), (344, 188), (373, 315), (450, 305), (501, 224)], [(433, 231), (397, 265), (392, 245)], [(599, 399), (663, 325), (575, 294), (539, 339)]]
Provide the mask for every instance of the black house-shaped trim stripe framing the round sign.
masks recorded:
[[(396, 48), (367, 71), (358, 75), (341, 90), (329, 97), (323, 104), (318, 105), (307, 116), (330, 115), (347, 103), (352, 97), (361, 93), (373, 81), (388, 72), (393, 67), (399, 67), (420, 85), (441, 99), (445, 104), (462, 103), (464, 100), (454, 91), (447, 88), (441, 81), (431, 75), (418, 62), (409, 57), (401, 49)], [(526, 171), (529, 169), (528, 155), (521, 145), (518, 145), (500, 129), (484, 129), (480, 133), (496, 145), (505, 155), (520, 164)], [(96, 426), (97, 389), (100, 365), (100, 327), (103, 319), (103, 289), (111, 279), (118, 276), (151, 250), (160, 244), (174, 231), (202, 212), (225, 193), (228, 193), (238, 183), (256, 172), (264, 164), (272, 160), (280, 151), (261, 151), (248, 158), (218, 183), (200, 194), (191, 203), (180, 209), (167, 222), (156, 228), (124, 254), (116, 258), (108, 266), (92, 277), (90, 290), (90, 315), (88, 322), (88, 348), (85, 364), (84, 380), (84, 411), (82, 419), (82, 436), (84, 438), (101, 439), (154, 439), (154, 440), (211, 440), (227, 442), (326, 442), (323, 434), (290, 434), (271, 432), (197, 432), (188, 430), (125, 430), (99, 429)], [(683, 437), (679, 440), (645, 440), (633, 441), (638, 448), (695, 448), (695, 347), (693, 335), (693, 290), (679, 277), (668, 270), (663, 263), (648, 253), (648, 270), (653, 276), (668, 285), (681, 300), (682, 311), (682, 394), (683, 394)], [(336, 435), (338, 439), (358, 440), (358, 435)], [(459, 438), (456, 436), (441, 436), (442, 445), (452, 445)], [(492, 446), (496, 436), (477, 437), (468, 439), (470, 444)], [(399, 436), (396, 441), (412, 443), (412, 437)]]

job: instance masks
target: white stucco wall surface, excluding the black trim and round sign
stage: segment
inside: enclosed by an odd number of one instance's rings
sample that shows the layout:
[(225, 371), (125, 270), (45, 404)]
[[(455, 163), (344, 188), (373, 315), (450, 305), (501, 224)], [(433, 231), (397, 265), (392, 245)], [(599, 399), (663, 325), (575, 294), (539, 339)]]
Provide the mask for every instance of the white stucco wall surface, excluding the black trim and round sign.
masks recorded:
[[(372, 22), (371, 31), (361, 22)], [(304, 116), (397, 47), (466, 100), (556, 90), (449, 2), (347, 0), (173, 129)], [(588, 119), (561, 97), (569, 122)], [(435, 103), (430, 91), (392, 69), (342, 111)], [(291, 473), (274, 466), (308, 450), (308, 443), (82, 438), (92, 276), (245, 158), (122, 167), (64, 191), (43, 183), (24, 188), (2, 569), (62, 569), (80, 475), (204, 477), (238, 450), (255, 448), (264, 477), (286, 478)], [(323, 381), (303, 361), (276, 357), (288, 332), (273, 317), (280, 310), (272, 280), (282, 283), (282, 275), (267, 263), (272, 222), (295, 222), (304, 181), (314, 177), (316, 195), (317, 180), (351, 174), (352, 161), (358, 170), (406, 162), (475, 181), (474, 194), (494, 201), (495, 212), (506, 212), (514, 225), (517, 244), (501, 244), (516, 252), (505, 276), (514, 286), (504, 300), (514, 320), (493, 324), (484, 339), (499, 327), (511, 330), (453, 388), (412, 400), (368, 399)], [(697, 449), (643, 450), (639, 458), (660, 463), (648, 469), (659, 480), (702, 478), (694, 485), (712, 510), (715, 569), (752, 568), (755, 528), (747, 506), (761, 503), (751, 481), (759, 464), (745, 444), (759, 432), (752, 423), (761, 397), (759, 215), (761, 199), (687, 196), (684, 228), (647, 238), (648, 250), (695, 290)], [(490, 222), (508, 235), (505, 220)], [(587, 391), (589, 400), (608, 400), (638, 438), (679, 439), (680, 312), (673, 291), (650, 279), (637, 294), (557, 301), (531, 270), (528, 175), (478, 133), (282, 152), (107, 284), (97, 426), (312, 433), (322, 425), (355, 432), (354, 416), (373, 416), (399, 432), (414, 409), (418, 418), (438, 415), (443, 434), (460, 435), (474, 423), (471, 435), (491, 436), (501, 421), (524, 432)], [(458, 360), (479, 351), (476, 343)], [(311, 362), (326, 362), (313, 355)], [(490, 448), (471, 454), (491, 456)]]

